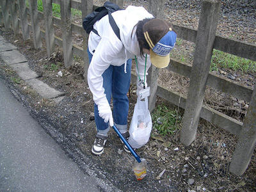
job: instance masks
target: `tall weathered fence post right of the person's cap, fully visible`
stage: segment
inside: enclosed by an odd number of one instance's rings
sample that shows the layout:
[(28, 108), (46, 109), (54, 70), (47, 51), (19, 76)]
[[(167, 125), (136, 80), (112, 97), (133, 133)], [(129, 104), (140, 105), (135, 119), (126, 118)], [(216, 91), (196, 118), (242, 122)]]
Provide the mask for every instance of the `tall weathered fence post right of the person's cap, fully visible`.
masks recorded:
[(180, 132), (180, 141), (187, 146), (195, 140), (196, 136), (196, 129), (211, 65), (212, 49), (220, 15), (220, 5), (219, 0), (202, 1), (188, 99), (186, 101), (183, 126)]

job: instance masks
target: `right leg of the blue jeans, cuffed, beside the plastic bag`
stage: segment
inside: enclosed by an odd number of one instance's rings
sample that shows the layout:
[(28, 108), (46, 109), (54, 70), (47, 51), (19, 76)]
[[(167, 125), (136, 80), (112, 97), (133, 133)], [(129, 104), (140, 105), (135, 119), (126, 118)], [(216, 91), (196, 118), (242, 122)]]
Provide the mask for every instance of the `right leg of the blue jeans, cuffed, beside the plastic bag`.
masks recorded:
[(132, 60), (127, 60), (127, 73), (124, 72), (124, 65), (120, 67), (113, 66), (113, 119), (121, 133), (127, 131), (127, 116), (129, 110), (127, 93), (131, 82), (131, 65)]

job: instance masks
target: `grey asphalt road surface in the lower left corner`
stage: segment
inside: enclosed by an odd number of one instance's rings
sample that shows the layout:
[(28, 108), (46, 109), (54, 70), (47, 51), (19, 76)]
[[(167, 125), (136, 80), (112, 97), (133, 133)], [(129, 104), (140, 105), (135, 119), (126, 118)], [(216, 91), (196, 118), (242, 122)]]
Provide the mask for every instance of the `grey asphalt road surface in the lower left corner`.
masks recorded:
[(0, 191), (100, 191), (1, 79)]

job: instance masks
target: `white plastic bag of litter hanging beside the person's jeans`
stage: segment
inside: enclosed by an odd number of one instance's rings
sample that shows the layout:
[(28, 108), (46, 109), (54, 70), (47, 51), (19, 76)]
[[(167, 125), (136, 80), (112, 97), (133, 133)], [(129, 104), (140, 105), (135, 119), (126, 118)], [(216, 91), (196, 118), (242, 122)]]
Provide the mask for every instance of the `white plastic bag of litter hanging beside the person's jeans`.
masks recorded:
[(146, 145), (150, 138), (152, 130), (152, 120), (148, 111), (148, 98), (145, 100), (137, 99), (132, 115), (132, 121), (129, 129), (129, 144), (132, 148), (140, 148)]

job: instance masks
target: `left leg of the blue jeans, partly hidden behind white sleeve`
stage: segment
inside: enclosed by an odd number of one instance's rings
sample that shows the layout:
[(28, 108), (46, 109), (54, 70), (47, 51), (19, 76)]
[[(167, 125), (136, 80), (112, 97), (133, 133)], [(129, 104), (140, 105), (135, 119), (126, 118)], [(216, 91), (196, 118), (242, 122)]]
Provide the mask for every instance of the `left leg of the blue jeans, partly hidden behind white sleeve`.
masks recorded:
[[(88, 52), (89, 62), (91, 62), (93, 55), (88, 51), (88, 49), (87, 49), (87, 52)], [(103, 88), (105, 89), (104, 93), (106, 94), (106, 97), (109, 103), (111, 100), (111, 92), (112, 92), (112, 73), (113, 73), (113, 66), (110, 65), (109, 68), (107, 68), (107, 70), (105, 70), (104, 73), (102, 74)], [(95, 124), (97, 127), (98, 134), (108, 136), (109, 125), (108, 123), (105, 123), (104, 119), (99, 116), (98, 106), (96, 104), (94, 104), (94, 116), (95, 116)]]

